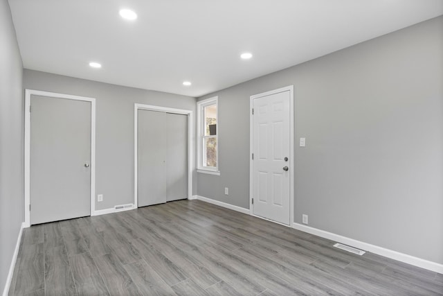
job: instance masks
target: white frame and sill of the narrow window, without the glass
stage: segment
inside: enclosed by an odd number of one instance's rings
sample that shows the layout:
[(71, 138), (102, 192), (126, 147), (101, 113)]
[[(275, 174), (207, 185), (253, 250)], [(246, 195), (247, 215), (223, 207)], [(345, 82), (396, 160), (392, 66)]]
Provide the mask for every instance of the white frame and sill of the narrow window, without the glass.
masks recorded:
[[(206, 98), (205, 100), (197, 102), (197, 172), (206, 173), (210, 175), (220, 175), (219, 171), (219, 102), (218, 96), (212, 98)], [(205, 121), (204, 121), (204, 108), (210, 105), (217, 107), (217, 125), (215, 126), (215, 136), (217, 137), (217, 166), (208, 167), (203, 165), (204, 160), (204, 138), (205, 136)]]

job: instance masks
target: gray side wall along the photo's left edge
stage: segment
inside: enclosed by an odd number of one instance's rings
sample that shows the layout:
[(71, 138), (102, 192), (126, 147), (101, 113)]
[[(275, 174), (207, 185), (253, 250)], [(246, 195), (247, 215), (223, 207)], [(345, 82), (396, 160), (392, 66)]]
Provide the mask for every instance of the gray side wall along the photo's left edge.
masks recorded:
[(23, 66), (8, 1), (0, 1), (0, 292), (24, 220)]

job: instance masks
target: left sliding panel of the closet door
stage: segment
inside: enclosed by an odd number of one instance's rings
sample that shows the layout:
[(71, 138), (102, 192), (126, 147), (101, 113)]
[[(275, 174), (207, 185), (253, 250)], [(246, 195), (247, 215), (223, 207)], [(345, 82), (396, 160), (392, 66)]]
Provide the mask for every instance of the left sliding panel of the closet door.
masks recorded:
[(166, 202), (165, 113), (138, 110), (138, 207)]

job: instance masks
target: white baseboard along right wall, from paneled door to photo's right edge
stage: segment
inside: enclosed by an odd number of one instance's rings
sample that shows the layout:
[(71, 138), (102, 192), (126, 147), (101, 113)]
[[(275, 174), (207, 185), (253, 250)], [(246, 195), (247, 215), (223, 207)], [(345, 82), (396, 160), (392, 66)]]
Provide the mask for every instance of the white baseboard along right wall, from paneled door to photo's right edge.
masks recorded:
[(346, 236), (333, 234), (332, 232), (325, 232), (324, 230), (320, 230), (314, 227), (309, 227), (299, 223), (293, 223), (293, 228), (298, 229), (302, 232), (307, 232), (309, 234), (321, 236), (323, 238), (327, 238), (332, 241), (337, 241), (338, 243), (344, 243), (345, 245), (350, 245), (352, 247), (356, 247), (358, 249), (365, 250), (374, 254), (385, 256), (390, 259), (408, 263), (410, 265), (415, 265), (419, 268), (425, 268), (427, 270), (432, 270), (434, 272), (443, 274), (443, 264), (440, 263), (428, 261), (426, 259), (421, 259), (415, 256), (410, 256), (408, 254), (389, 250), (384, 247), (379, 247), (378, 245), (371, 245), (370, 243), (364, 243), (363, 241), (357, 241), (353, 238), (348, 238)]

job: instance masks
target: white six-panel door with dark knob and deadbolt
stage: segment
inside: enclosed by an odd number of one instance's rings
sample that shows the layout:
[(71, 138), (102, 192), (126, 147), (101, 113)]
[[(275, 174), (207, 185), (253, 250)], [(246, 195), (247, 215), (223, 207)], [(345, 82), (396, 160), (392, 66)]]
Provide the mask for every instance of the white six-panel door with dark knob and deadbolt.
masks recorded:
[(289, 225), (289, 91), (253, 98), (253, 214)]

